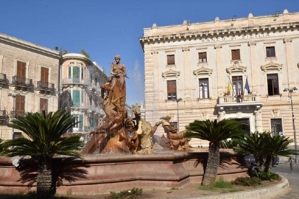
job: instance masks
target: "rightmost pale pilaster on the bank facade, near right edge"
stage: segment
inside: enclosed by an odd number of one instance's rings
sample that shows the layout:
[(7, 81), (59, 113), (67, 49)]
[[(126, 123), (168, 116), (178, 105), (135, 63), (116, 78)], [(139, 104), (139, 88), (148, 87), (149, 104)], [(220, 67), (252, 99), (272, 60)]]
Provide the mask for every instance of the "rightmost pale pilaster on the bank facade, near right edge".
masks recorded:
[(286, 56), (287, 56), (287, 64), (286, 64), (286, 70), (287, 70), (287, 76), (288, 76), (288, 83), (289, 86), (295, 86), (296, 81), (296, 67), (294, 64), (294, 55), (293, 55), (293, 49), (292, 49), (292, 38), (285, 38), (283, 39), (284, 46), (286, 49)]

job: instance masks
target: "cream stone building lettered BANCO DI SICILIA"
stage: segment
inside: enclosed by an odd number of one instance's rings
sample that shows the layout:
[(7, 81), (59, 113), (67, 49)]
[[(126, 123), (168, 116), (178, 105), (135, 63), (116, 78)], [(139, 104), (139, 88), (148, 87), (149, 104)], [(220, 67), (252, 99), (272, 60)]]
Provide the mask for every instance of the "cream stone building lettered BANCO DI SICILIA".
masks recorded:
[[(284, 88), (299, 83), (299, 12), (157, 26), (139, 38), (145, 54), (145, 117), (170, 115), (179, 129), (195, 119), (234, 118), (248, 132), (294, 138)], [(246, 79), (249, 89), (244, 91)], [(228, 84), (233, 90), (225, 95)], [(298, 91), (292, 93), (295, 118)], [(297, 132), (298, 120), (295, 119)], [(156, 134), (164, 133), (158, 127)], [(298, 140), (299, 137), (297, 137)], [(192, 139), (193, 146), (207, 146)], [(294, 143), (292, 143), (294, 144)]]

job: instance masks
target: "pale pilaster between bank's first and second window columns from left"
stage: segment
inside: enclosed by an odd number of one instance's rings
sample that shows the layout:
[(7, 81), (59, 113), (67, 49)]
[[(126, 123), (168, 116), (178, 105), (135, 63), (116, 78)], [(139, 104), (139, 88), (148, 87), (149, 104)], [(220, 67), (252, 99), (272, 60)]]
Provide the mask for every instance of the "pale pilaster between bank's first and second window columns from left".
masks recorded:
[[(183, 47), (183, 71), (185, 80), (185, 104), (188, 99), (191, 99), (191, 64), (190, 64), (190, 48)], [(190, 101), (191, 102), (191, 101)]]

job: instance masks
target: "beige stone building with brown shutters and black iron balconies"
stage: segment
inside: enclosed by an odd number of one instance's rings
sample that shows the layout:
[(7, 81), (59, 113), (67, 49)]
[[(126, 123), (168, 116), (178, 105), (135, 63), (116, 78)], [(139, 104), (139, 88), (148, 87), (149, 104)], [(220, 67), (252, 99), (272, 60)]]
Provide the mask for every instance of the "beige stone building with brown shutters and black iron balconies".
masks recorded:
[(0, 34), (1, 139), (22, 136), (7, 127), (15, 116), (58, 109), (60, 57), (55, 50)]

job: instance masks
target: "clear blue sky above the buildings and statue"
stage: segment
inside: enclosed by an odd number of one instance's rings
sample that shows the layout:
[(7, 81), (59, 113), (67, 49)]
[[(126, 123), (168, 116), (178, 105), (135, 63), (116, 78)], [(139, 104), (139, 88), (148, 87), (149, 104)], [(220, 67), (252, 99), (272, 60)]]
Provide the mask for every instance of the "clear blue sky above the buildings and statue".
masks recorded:
[(299, 1), (1, 1), (0, 32), (47, 48), (64, 47), (80, 53), (79, 44), (106, 70), (114, 55), (121, 55), (127, 104), (144, 101), (144, 54), (138, 37), (143, 28), (299, 12)]

